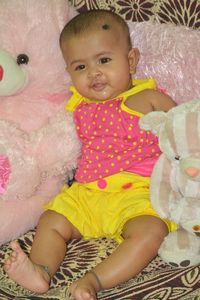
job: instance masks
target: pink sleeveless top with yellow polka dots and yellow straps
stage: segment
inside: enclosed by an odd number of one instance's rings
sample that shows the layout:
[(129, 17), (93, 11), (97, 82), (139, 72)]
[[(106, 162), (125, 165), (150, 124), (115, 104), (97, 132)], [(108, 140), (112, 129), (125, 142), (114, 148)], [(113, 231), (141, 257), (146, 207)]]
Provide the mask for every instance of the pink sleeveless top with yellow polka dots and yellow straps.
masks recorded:
[(91, 182), (119, 173), (132, 172), (150, 176), (160, 155), (158, 139), (150, 131), (141, 130), (142, 113), (125, 105), (128, 96), (144, 89), (155, 89), (153, 79), (133, 80), (133, 88), (117, 98), (92, 101), (81, 96), (74, 87), (66, 109), (74, 112), (82, 156), (75, 179)]

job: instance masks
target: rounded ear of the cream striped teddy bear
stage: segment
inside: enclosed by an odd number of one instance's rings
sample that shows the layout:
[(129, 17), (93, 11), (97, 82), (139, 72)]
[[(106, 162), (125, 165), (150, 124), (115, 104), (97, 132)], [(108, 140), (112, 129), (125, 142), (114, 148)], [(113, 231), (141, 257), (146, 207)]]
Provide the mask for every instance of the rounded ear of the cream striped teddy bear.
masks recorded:
[(155, 135), (159, 134), (161, 126), (167, 120), (167, 113), (153, 111), (140, 118), (139, 125), (144, 130), (151, 130)]

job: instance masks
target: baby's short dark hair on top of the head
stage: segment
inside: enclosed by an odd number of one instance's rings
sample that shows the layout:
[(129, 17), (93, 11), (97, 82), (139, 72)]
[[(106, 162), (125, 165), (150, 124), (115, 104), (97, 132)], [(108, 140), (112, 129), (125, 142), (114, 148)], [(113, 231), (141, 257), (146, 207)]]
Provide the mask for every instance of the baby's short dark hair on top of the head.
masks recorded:
[(104, 9), (90, 10), (80, 13), (71, 19), (61, 32), (60, 45), (62, 45), (62, 42), (70, 37), (87, 33), (88, 30), (102, 29), (109, 31), (116, 26), (123, 30), (123, 34), (127, 37), (128, 46), (131, 48), (129, 27), (125, 20), (116, 13)]

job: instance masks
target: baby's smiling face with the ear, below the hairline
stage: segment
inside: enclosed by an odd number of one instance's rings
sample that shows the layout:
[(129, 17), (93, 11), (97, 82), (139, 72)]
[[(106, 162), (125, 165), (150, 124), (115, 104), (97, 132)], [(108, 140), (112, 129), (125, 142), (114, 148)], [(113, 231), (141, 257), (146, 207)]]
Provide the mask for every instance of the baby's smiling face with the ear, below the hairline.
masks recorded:
[(74, 86), (86, 98), (112, 99), (132, 86), (132, 50), (122, 33), (102, 29), (73, 37), (62, 51)]

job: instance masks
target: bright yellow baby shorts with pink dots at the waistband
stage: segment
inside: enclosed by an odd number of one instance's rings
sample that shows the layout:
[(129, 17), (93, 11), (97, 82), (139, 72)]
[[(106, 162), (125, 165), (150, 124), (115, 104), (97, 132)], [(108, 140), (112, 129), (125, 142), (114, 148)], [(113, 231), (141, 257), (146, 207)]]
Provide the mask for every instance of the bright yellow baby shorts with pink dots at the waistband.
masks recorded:
[[(64, 215), (84, 238), (110, 237), (119, 243), (125, 223), (137, 216), (158, 216), (149, 199), (149, 177), (120, 173), (91, 183), (74, 182), (44, 207)], [(163, 220), (169, 231), (177, 225)]]

